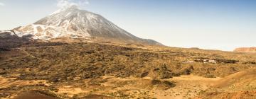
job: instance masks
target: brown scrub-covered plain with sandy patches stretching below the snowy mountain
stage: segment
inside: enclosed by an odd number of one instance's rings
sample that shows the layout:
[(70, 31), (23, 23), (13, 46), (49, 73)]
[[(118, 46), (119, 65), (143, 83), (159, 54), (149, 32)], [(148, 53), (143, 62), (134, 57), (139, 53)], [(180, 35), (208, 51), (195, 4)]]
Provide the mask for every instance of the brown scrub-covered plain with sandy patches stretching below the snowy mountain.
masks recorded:
[[(252, 72), (244, 74), (250, 75), (249, 81), (242, 82), (244, 76), (238, 76), (240, 81), (225, 85), (230, 88), (213, 84), (225, 83), (223, 79), (231, 74), (256, 69), (255, 56), (112, 42), (39, 42), (2, 37), (0, 98), (232, 98), (238, 94), (255, 98), (256, 75)], [(232, 88), (236, 83), (244, 84)]]

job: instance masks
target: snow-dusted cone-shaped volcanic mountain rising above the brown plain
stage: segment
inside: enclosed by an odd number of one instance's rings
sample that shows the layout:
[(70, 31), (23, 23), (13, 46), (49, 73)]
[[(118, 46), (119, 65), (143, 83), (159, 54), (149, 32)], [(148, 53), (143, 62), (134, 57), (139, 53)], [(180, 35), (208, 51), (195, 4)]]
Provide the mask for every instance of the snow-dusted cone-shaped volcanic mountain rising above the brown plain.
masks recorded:
[(19, 37), (32, 35), (33, 39), (40, 40), (51, 40), (59, 37), (74, 39), (93, 37), (101, 38), (101, 40), (161, 45), (154, 40), (136, 37), (102, 16), (81, 10), (78, 6), (61, 8), (36, 23), (15, 28), (14, 31)]

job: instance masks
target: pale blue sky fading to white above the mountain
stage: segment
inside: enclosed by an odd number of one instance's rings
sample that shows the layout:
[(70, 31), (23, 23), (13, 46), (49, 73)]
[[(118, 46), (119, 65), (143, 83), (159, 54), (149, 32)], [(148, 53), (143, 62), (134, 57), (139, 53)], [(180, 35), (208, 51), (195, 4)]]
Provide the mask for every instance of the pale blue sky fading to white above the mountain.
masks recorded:
[[(28, 25), (67, 0), (0, 0), (0, 30)], [(256, 46), (256, 0), (68, 0), (120, 28), (170, 47)], [(63, 2), (62, 2), (63, 3)]]

